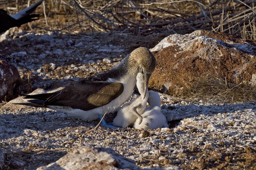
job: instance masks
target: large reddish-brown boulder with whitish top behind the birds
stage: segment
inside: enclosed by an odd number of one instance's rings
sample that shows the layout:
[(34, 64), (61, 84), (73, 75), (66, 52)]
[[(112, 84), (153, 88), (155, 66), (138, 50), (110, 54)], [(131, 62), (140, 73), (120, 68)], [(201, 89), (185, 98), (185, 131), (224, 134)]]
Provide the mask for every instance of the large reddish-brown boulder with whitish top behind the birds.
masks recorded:
[(210, 31), (169, 35), (151, 49), (157, 66), (152, 89), (179, 96), (209, 75), (227, 83), (256, 83), (256, 41)]

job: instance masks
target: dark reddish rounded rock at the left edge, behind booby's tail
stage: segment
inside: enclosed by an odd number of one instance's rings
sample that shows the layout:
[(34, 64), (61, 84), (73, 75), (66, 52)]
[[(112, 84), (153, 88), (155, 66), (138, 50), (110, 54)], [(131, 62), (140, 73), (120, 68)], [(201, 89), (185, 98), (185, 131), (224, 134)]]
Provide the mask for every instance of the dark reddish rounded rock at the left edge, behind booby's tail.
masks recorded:
[(17, 68), (7, 61), (0, 60), (0, 100), (17, 97), (20, 75)]

